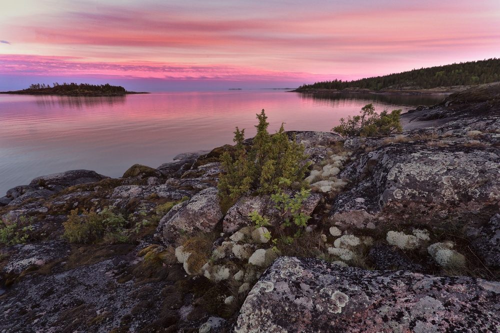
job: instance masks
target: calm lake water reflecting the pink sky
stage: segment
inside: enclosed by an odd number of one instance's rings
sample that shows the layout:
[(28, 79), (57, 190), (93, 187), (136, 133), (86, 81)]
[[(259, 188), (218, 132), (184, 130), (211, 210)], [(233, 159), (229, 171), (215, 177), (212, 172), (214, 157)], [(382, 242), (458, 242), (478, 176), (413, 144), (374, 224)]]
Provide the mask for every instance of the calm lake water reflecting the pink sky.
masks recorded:
[(0, 196), (39, 175), (90, 169), (118, 177), (134, 163), (157, 167), (178, 153), (233, 143), (235, 126), (255, 134), (329, 131), (367, 103), (376, 111), (440, 102), (445, 95), (328, 94), (283, 90), (164, 92), (118, 97), (0, 95)]

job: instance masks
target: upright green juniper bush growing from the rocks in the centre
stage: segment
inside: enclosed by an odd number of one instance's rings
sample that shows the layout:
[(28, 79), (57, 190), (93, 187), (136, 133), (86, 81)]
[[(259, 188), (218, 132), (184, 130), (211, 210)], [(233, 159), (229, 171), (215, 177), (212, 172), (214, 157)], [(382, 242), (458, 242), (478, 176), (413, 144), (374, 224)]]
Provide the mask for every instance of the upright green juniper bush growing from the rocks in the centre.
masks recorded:
[(269, 135), (264, 110), (257, 114), (257, 133), (252, 146), (246, 150), (243, 145), (244, 129), (236, 127), (234, 157), (228, 152), (221, 156), (225, 174), (218, 182), (219, 196), (222, 201), (234, 202), (241, 194), (250, 190), (260, 194), (272, 193), (279, 178), (290, 182), (302, 181), (308, 164), (305, 163), (304, 147), (290, 142), (284, 132), (283, 124), (274, 135)]

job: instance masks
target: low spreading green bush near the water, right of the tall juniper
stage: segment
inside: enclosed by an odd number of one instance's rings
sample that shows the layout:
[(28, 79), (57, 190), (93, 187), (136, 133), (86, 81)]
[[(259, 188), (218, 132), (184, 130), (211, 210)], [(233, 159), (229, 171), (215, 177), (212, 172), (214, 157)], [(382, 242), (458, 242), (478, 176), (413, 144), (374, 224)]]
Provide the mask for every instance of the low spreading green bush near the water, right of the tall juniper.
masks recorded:
[(375, 113), (373, 104), (366, 104), (361, 108), (360, 115), (350, 115), (347, 121), (340, 118), (340, 124), (331, 130), (347, 136), (376, 136), (388, 135), (402, 130), (399, 115), (401, 110), (393, 110), (390, 113), (383, 110), (380, 114)]

